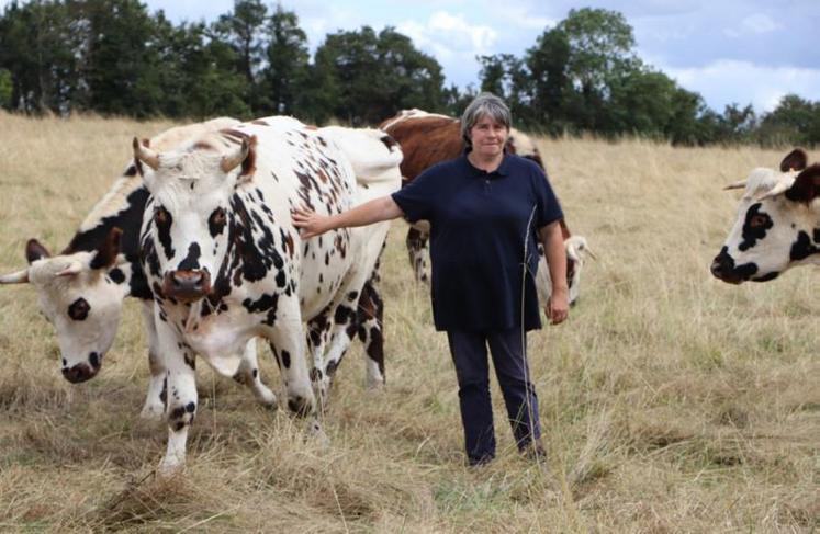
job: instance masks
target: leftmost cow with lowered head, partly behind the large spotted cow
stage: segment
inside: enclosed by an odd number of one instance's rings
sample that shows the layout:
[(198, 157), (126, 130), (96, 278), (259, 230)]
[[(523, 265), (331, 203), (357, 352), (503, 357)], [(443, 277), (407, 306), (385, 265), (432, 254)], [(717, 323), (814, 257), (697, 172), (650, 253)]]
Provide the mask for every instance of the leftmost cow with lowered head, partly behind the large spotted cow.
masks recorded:
[[(222, 117), (178, 126), (149, 143), (159, 149), (170, 149), (193, 135), (237, 124), (239, 121)], [(31, 239), (25, 247), (30, 265), (0, 276), (0, 283), (34, 286), (41, 310), (57, 330), (63, 375), (71, 383), (86, 382), (100, 371), (116, 336), (123, 299), (131, 296), (143, 300), (151, 379), (142, 416), (158, 418), (164, 410), (159, 395), (166, 373), (157, 349), (153, 294), (139, 264), (139, 228), (149, 193), (137, 166), (127, 164), (61, 253), (52, 255), (37, 240)], [(256, 345), (249, 343), (243, 355), (235, 378), (246, 384), (262, 404), (276, 405), (276, 397), (259, 378)]]

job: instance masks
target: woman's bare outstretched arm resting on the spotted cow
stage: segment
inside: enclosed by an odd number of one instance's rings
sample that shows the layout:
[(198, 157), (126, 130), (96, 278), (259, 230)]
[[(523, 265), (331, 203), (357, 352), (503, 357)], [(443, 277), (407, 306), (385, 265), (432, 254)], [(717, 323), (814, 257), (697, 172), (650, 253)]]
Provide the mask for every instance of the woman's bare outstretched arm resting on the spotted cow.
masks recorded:
[(367, 226), (404, 215), (392, 196), (381, 196), (336, 215), (319, 215), (305, 207), (291, 212), (293, 226), (300, 229), (302, 239), (318, 236), (336, 228)]

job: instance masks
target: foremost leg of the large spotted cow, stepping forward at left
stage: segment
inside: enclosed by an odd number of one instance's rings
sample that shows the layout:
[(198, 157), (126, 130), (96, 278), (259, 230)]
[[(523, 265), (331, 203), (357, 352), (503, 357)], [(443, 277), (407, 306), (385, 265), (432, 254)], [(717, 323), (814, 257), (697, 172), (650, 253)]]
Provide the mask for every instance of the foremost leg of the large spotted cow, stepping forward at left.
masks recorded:
[(190, 348), (180, 342), (170, 325), (160, 320), (155, 311), (159, 349), (166, 363), (164, 398), (168, 421), (168, 446), (159, 463), (159, 471), (169, 474), (186, 461), (188, 428), (196, 414), (195, 356)]

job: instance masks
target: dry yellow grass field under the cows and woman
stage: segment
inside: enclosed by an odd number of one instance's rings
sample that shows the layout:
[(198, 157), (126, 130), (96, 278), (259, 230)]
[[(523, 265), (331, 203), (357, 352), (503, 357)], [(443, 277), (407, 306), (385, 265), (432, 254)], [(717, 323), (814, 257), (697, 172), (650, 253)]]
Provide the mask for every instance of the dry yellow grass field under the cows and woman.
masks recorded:
[[(63, 249), (131, 137), (168, 126), (0, 114), (0, 271), (23, 264), (30, 237)], [(785, 151), (540, 149), (570, 227), (599, 257), (569, 322), (529, 337), (546, 465), (515, 451), (493, 383), (498, 458), (463, 466), (446, 338), (395, 221), (382, 272), (387, 386), (364, 389), (357, 344), (324, 416), (325, 447), (200, 365), (189, 462), (168, 480), (155, 476), (165, 425), (137, 417), (148, 377), (137, 304), (100, 375), (71, 385), (33, 289), (1, 287), (0, 531), (819, 530), (818, 272), (735, 287), (708, 270), (734, 217), (738, 193), (721, 186)]]

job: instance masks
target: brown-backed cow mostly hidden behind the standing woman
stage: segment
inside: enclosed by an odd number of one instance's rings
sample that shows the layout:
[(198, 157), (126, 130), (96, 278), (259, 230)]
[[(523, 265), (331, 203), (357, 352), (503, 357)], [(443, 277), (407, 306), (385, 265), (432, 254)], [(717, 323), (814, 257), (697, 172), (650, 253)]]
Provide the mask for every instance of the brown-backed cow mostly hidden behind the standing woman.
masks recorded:
[[(396, 116), (383, 121), (379, 126), (391, 135), (402, 147), (404, 160), (402, 161), (402, 183), (407, 184), (417, 175), (439, 161), (460, 156), (464, 150), (461, 138), (461, 121), (447, 115), (427, 113), (422, 110), (403, 110)], [(543, 161), (538, 147), (532, 139), (515, 128), (510, 128), (506, 150), (517, 154), (523, 158), (531, 159), (543, 169)], [(581, 268), (586, 255), (592, 251), (586, 239), (570, 240), (571, 234), (566, 223), (561, 219), (561, 234), (564, 238), (566, 249), (566, 281), (570, 286), (570, 304), (574, 304), (579, 296), (579, 282)], [(429, 239), (429, 225), (419, 221), (407, 230), (407, 252), (411, 266), (416, 281), (427, 282), (427, 240)], [(552, 292), (550, 284), (547, 258), (543, 247), (539, 245), (540, 257), (537, 279), (538, 294), (540, 298), (549, 298)], [(544, 274), (546, 273), (546, 274)], [(542, 300), (546, 302), (546, 300)]]

